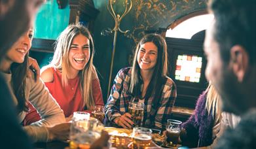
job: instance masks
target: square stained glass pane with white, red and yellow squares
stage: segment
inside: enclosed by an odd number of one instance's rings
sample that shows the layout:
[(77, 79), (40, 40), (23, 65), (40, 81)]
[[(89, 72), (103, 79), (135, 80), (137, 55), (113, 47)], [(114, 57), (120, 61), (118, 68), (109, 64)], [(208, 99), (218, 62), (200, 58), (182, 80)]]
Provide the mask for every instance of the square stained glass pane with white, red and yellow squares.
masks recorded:
[(179, 55), (175, 67), (175, 79), (186, 82), (199, 82), (202, 69), (202, 57)]

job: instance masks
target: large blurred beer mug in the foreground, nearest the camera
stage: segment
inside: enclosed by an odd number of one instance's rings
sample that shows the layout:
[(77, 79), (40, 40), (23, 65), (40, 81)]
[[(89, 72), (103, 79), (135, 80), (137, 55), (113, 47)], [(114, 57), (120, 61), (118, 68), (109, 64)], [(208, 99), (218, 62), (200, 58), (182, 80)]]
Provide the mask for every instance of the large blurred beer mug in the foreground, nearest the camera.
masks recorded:
[(71, 149), (90, 148), (90, 145), (100, 138), (100, 133), (96, 118), (79, 120), (74, 117), (70, 128), (69, 147)]

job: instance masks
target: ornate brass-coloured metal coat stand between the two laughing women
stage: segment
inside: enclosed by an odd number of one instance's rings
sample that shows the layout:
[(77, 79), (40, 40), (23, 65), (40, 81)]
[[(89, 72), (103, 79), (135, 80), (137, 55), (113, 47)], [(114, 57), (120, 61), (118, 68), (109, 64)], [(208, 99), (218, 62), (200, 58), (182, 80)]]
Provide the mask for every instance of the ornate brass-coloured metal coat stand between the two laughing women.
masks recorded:
[(113, 9), (113, 5), (115, 5), (116, 0), (109, 0), (109, 3), (107, 5), (107, 10), (109, 10), (109, 13), (115, 20), (115, 27), (113, 29), (106, 29), (104, 31), (101, 31), (101, 35), (109, 35), (114, 32), (114, 40), (113, 40), (113, 49), (112, 49), (112, 55), (111, 55), (111, 65), (110, 65), (110, 72), (109, 72), (109, 86), (107, 90), (107, 97), (109, 97), (109, 91), (111, 90), (111, 78), (112, 78), (112, 71), (113, 71), (113, 63), (114, 63), (114, 58), (115, 58), (115, 47), (117, 44), (117, 32), (120, 31), (120, 33), (123, 33), (124, 36), (130, 38), (131, 34), (129, 30), (122, 31), (119, 27), (120, 22), (128, 12), (132, 9), (132, 0), (125, 0), (124, 1), (124, 12), (122, 14), (116, 14), (115, 10)]

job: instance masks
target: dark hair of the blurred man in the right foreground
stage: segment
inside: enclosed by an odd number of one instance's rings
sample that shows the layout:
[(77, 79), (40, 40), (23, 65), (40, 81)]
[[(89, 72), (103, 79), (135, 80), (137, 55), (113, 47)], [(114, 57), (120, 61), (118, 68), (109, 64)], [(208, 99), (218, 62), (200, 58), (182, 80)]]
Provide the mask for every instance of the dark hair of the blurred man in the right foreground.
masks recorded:
[(230, 48), (238, 44), (246, 49), (249, 63), (255, 64), (256, 1), (213, 0), (210, 8), (215, 16), (215, 41), (221, 58), (230, 60)]

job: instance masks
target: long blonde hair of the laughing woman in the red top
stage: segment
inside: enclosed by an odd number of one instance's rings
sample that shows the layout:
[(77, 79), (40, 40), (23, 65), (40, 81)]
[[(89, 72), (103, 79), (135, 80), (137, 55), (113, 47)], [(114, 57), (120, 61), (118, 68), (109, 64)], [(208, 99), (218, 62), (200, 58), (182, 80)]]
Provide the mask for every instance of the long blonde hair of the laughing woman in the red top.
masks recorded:
[(84, 69), (79, 71), (79, 78), (81, 84), (81, 93), (82, 99), (84, 100), (84, 106), (86, 106), (89, 110), (92, 109), (95, 105), (94, 99), (92, 96), (92, 75), (95, 72), (95, 68), (93, 65), (94, 58), (94, 41), (92, 40), (92, 35), (84, 25), (82, 24), (72, 24), (67, 26), (67, 28), (62, 31), (60, 36), (58, 37), (55, 43), (55, 52), (50, 62), (50, 65), (56, 67), (59, 71), (62, 72), (62, 85), (68, 85), (68, 70), (71, 67), (69, 62), (69, 49), (71, 46), (71, 42), (74, 37), (82, 34), (90, 41), (90, 59), (88, 63), (86, 63)]

